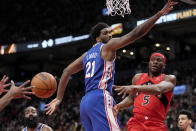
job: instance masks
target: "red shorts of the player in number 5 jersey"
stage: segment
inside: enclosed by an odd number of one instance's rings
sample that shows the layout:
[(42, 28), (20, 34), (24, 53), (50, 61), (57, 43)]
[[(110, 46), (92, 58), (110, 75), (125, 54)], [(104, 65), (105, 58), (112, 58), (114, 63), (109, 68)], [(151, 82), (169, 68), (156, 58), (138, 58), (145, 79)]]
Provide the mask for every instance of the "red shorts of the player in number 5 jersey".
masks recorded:
[(134, 114), (128, 121), (128, 131), (167, 131), (167, 127), (157, 118)]

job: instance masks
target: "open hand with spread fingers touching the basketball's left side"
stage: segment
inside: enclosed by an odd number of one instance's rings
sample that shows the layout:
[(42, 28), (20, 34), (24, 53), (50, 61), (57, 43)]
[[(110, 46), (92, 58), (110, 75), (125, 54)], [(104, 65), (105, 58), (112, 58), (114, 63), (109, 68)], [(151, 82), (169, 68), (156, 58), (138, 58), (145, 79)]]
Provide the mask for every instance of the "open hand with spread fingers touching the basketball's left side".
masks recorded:
[(30, 82), (30, 80), (24, 82), (22, 85), (17, 87), (17, 86), (15, 86), (14, 81), (11, 81), (11, 88), (8, 91), (8, 93), (14, 99), (18, 99), (18, 98), (31, 99), (31, 97), (29, 97), (27, 95), (33, 95), (34, 94), (33, 92), (30, 91), (33, 88), (33, 86), (25, 87), (29, 82)]

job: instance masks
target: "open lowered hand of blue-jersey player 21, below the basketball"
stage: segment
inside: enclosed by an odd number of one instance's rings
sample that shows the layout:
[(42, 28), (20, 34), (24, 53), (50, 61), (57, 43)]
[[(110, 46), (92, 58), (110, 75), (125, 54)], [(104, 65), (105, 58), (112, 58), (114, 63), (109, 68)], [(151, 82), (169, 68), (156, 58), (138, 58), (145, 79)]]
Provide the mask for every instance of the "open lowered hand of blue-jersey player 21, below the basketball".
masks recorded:
[(44, 109), (44, 111), (47, 111), (46, 115), (52, 115), (52, 113), (58, 108), (60, 103), (61, 103), (61, 101), (59, 99), (55, 98), (49, 104), (46, 104), (45, 109)]

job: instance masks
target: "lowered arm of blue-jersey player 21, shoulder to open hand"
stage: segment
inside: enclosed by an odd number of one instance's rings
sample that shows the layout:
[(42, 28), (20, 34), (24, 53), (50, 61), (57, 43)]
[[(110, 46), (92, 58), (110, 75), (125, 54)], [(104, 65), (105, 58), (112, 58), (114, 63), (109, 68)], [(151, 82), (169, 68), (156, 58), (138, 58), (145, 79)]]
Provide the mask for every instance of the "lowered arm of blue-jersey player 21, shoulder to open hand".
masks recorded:
[(63, 74), (60, 78), (59, 85), (58, 85), (56, 98), (52, 100), (49, 104), (45, 105), (45, 111), (47, 111), (46, 112), (47, 115), (52, 115), (52, 113), (58, 108), (59, 104), (61, 103), (65, 89), (69, 82), (70, 76), (83, 69), (82, 62), (83, 62), (84, 56), (85, 56), (85, 53), (82, 56), (80, 56), (78, 59), (76, 59), (73, 63), (68, 65), (67, 68), (64, 69)]

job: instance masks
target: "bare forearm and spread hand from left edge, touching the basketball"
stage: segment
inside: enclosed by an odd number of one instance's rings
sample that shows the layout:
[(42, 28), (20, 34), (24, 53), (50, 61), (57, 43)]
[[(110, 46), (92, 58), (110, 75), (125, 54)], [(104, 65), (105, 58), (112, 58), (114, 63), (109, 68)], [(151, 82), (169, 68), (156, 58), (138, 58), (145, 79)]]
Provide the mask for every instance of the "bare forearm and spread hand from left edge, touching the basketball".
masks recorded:
[(30, 92), (33, 87), (26, 87), (25, 86), (29, 83), (30, 81), (24, 82), (24, 84), (20, 85), (19, 87), (15, 86), (14, 81), (11, 81), (11, 88), (10, 90), (0, 99), (0, 111), (2, 111), (12, 99), (16, 98), (26, 98), (26, 99), (31, 99), (27, 95), (32, 95), (33, 92)]

